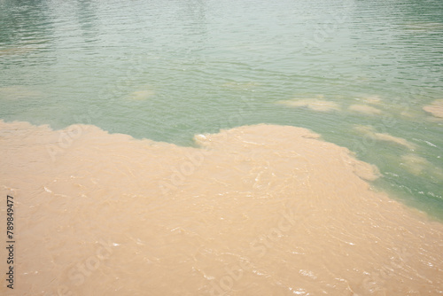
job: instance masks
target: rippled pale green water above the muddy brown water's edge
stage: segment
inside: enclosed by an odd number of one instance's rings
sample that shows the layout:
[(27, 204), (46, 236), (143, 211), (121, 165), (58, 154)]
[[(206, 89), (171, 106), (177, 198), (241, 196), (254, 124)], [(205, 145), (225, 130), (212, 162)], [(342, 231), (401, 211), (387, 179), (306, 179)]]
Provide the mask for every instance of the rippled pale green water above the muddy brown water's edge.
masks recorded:
[(443, 218), (443, 122), (426, 108), (443, 94), (441, 15), (441, 1), (4, 0), (0, 118), (180, 145), (258, 123), (312, 129)]

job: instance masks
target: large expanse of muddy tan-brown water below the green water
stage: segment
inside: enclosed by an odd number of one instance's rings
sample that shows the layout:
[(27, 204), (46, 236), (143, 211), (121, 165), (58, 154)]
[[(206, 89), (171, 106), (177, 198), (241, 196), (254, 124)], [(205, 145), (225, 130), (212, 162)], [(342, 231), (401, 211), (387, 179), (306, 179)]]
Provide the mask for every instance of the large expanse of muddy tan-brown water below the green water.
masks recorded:
[(16, 222), (14, 290), (0, 292), (443, 293), (443, 225), (373, 191), (377, 168), (346, 148), (272, 125), (196, 142), (0, 121)]

